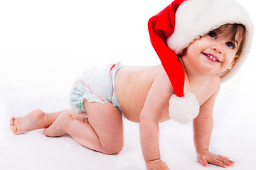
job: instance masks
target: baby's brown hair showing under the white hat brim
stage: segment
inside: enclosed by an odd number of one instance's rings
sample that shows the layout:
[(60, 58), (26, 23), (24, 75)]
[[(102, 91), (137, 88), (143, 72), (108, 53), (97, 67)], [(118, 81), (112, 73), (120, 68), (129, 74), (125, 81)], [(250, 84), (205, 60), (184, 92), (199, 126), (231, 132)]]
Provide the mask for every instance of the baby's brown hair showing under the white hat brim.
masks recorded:
[[(229, 38), (231, 42), (235, 44), (235, 40), (238, 41), (238, 51), (235, 54), (236, 56), (239, 56), (242, 52), (243, 46), (245, 44), (245, 26), (242, 24), (234, 23), (234, 24), (225, 24), (223, 26), (220, 26), (219, 28), (213, 30), (217, 33), (217, 35), (220, 35), (221, 38)], [(236, 38), (236, 39), (235, 39)]]

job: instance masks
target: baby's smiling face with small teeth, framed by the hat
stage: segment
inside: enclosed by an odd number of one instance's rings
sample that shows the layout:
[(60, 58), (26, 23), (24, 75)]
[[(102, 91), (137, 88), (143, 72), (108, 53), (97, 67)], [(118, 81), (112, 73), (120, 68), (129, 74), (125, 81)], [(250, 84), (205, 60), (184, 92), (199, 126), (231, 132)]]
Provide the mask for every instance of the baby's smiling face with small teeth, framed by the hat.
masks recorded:
[(204, 74), (219, 74), (232, 67), (237, 47), (238, 40), (230, 42), (228, 38), (220, 38), (217, 33), (210, 32), (194, 40), (182, 57)]

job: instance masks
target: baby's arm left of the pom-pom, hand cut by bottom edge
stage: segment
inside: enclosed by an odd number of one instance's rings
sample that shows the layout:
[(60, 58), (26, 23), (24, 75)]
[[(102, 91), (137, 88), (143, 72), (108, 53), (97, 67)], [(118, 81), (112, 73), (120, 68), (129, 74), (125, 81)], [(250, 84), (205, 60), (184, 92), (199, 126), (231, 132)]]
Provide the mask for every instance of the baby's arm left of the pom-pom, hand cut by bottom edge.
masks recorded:
[(158, 123), (168, 117), (165, 114), (168, 114), (168, 101), (171, 95), (170, 86), (166, 88), (164, 84), (161, 76), (153, 81), (140, 115), (139, 131), (146, 169), (169, 169), (161, 161), (159, 151)]

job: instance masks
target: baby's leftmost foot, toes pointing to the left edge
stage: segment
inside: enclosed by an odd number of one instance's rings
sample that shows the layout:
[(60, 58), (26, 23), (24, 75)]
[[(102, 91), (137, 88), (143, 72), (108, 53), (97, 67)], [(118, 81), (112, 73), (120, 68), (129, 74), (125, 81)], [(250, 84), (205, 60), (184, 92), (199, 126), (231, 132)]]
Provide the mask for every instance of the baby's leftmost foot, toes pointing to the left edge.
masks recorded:
[(10, 128), (15, 135), (29, 132), (31, 130), (36, 130), (43, 128), (43, 119), (46, 113), (43, 113), (40, 109), (36, 109), (27, 115), (18, 118), (11, 118)]

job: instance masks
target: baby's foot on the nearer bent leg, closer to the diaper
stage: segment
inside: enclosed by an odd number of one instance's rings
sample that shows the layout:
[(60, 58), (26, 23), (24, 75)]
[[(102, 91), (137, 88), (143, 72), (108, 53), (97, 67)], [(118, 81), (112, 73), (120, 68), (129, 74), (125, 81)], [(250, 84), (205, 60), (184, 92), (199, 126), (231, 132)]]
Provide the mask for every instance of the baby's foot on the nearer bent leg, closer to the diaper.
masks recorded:
[(48, 137), (60, 137), (65, 134), (66, 128), (68, 127), (68, 124), (70, 121), (73, 120), (72, 115), (68, 112), (61, 113), (58, 118), (55, 120), (55, 122), (50, 125), (49, 128), (43, 130), (43, 133)]

